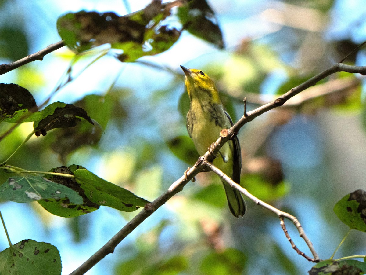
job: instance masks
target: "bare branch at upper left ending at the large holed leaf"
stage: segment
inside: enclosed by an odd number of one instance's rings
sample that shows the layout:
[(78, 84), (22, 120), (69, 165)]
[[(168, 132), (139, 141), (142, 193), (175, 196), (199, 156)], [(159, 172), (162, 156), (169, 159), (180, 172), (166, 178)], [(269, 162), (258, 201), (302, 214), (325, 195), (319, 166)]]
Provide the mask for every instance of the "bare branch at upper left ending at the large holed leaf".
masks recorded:
[(41, 49), (40, 51), (38, 52), (35, 52), (34, 54), (30, 54), (22, 59), (19, 59), (17, 61), (14, 61), (12, 63), (9, 63), (9, 64), (1, 64), (0, 65), (0, 75), (1, 74), (4, 74), (4, 73), (7, 73), (7, 72), (10, 72), (20, 66), (23, 66), (27, 63), (30, 63), (34, 60), (43, 60), (44, 56), (46, 54), (49, 54), (50, 52), (53, 52), (53, 51), (56, 51), (56, 49), (59, 49), (61, 47), (63, 47), (65, 45), (64, 41), (59, 41), (59, 42), (56, 42), (54, 44), (51, 44), (51, 45), (48, 45), (46, 48), (44, 49)]

